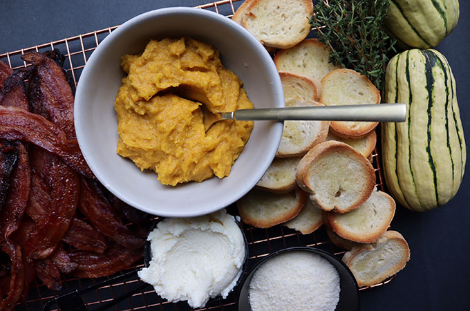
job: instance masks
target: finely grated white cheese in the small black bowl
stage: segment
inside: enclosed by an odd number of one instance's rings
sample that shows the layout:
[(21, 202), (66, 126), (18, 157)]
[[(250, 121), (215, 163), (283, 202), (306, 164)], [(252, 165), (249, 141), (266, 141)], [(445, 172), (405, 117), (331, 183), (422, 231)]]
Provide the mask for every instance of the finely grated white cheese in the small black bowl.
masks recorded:
[(263, 310), (335, 310), (339, 275), (321, 256), (285, 252), (263, 263), (250, 282), (250, 305)]

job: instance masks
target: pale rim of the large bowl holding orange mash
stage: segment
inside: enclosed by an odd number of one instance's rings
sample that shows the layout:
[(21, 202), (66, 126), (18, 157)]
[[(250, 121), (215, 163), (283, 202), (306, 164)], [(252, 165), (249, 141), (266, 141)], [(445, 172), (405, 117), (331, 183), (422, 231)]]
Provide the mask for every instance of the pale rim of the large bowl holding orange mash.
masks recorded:
[[(84, 90), (84, 85), (86, 84), (86, 81), (88, 77), (91, 76), (91, 73), (93, 71), (92, 66), (89, 64), (95, 63), (95, 59), (101, 59), (102, 55), (104, 54), (104, 51), (109, 48), (113, 44), (113, 39), (120, 37), (122, 34), (125, 32), (129, 31), (133, 26), (138, 26), (140, 23), (150, 20), (150, 19), (158, 19), (160, 17), (167, 17), (167, 16), (172, 16), (172, 15), (199, 15), (200, 17), (204, 17), (206, 19), (211, 19), (215, 20), (218, 23), (224, 23), (227, 25), (228, 28), (234, 28), (234, 31), (241, 33), (241, 35), (247, 39), (248, 43), (250, 45), (255, 46), (256, 51), (263, 57), (264, 59), (267, 59), (269, 57), (272, 59), (272, 57), (267, 53), (261, 42), (256, 39), (248, 30), (243, 28), (241, 25), (236, 23), (235, 21), (232, 21), (232, 19), (229, 19), (228, 17), (225, 17), (224, 15), (220, 15), (217, 12), (212, 12), (210, 10), (203, 10), (200, 8), (190, 8), (190, 7), (184, 7), (184, 6), (176, 6), (176, 7), (171, 7), (171, 8), (160, 8), (156, 10), (151, 10), (149, 12), (144, 12), (140, 15), (137, 15), (128, 21), (125, 21), (122, 23), (121, 26), (113, 30), (108, 36), (106, 36), (103, 41), (97, 46), (97, 48), (93, 51), (91, 56), (88, 58), (88, 61), (86, 65), (84, 66), (84, 69), (80, 75), (79, 81), (77, 83), (77, 91), (75, 93), (75, 105), (74, 105), (74, 124), (75, 124), (75, 133), (77, 135), (77, 142), (79, 144), (80, 149), (82, 150), (82, 154), (84, 156), (84, 159), (86, 160), (88, 166), (90, 167), (91, 171), (99, 180), (106, 189), (111, 191), (115, 196), (126, 202), (127, 204), (140, 209), (142, 211), (145, 211), (149, 214), (153, 214), (156, 216), (163, 216), (163, 217), (194, 217), (194, 216), (201, 216), (201, 215), (206, 215), (210, 214), (214, 211), (218, 211), (220, 209), (223, 209), (224, 207), (228, 207), (229, 205), (233, 204), (236, 202), (238, 199), (240, 199), (242, 196), (244, 196), (250, 189), (252, 189), (256, 183), (261, 179), (263, 176), (264, 171), (269, 167), (269, 164), (261, 165), (263, 168), (263, 173), (258, 173), (256, 174), (256, 178), (251, 178), (250, 182), (245, 182), (245, 185), (243, 186), (243, 191), (237, 191), (236, 195), (231, 196), (229, 200), (218, 200), (218, 202), (214, 202), (213, 205), (211, 205), (211, 208), (206, 208), (203, 211), (186, 211), (186, 212), (178, 212), (178, 209), (171, 209), (170, 211), (155, 211), (155, 209), (147, 206), (147, 205), (142, 205), (140, 202), (134, 202), (130, 198), (127, 198), (125, 195), (121, 194), (118, 187), (115, 187), (113, 185), (113, 182), (109, 182), (102, 173), (100, 169), (100, 165), (97, 164), (92, 156), (88, 156), (88, 142), (86, 142), (86, 134), (84, 133), (84, 127), (85, 126), (80, 126), (79, 125), (79, 120), (82, 120), (84, 117), (82, 116), (82, 112), (80, 111), (80, 104), (77, 104), (79, 102), (83, 102), (82, 97), (85, 96), (86, 91)], [(210, 43), (210, 42), (209, 42)], [(264, 54), (264, 55), (263, 55)], [(279, 73), (276, 70), (276, 66), (274, 65), (274, 62), (272, 62), (272, 65), (270, 65), (267, 68), (267, 72), (270, 73), (270, 76), (278, 75)], [(282, 85), (281, 85), (281, 80), (279, 79), (274, 79), (274, 87), (276, 89), (279, 89), (280, 95), (282, 96), (282, 102), (283, 102), (283, 92), (282, 92)], [(278, 122), (280, 123), (280, 122)], [(276, 148), (273, 148), (273, 150), (270, 151), (270, 153), (266, 154), (266, 158), (272, 158), (274, 159), (274, 156), (276, 154), (276, 149), (279, 146), (279, 142), (281, 141), (281, 135), (283, 131), (283, 126), (279, 126), (276, 124), (276, 126), (272, 126), (272, 131), (274, 131), (274, 137), (276, 137), (276, 141), (274, 144), (276, 144)], [(250, 141), (250, 140), (249, 140)], [(261, 170), (260, 170), (261, 171)], [(259, 176), (258, 176), (259, 175)], [(246, 181), (246, 180), (245, 180)], [(155, 206), (154, 204), (153, 206)]]

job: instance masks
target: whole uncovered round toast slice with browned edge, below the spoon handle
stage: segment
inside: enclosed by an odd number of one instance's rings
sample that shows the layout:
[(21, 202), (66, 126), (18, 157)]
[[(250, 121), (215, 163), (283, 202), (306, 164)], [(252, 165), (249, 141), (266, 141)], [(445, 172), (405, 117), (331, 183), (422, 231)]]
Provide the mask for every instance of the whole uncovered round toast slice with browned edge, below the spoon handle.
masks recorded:
[(366, 202), (375, 187), (370, 162), (344, 142), (321, 142), (297, 165), (297, 184), (324, 211), (346, 213)]

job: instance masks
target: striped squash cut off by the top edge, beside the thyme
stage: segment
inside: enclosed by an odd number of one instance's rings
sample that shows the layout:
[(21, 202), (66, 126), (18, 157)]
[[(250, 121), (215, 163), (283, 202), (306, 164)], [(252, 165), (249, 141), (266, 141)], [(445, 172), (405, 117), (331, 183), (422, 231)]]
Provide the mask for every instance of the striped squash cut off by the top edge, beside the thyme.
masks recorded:
[(458, 0), (391, 0), (385, 27), (402, 48), (433, 48), (455, 28), (459, 15)]

